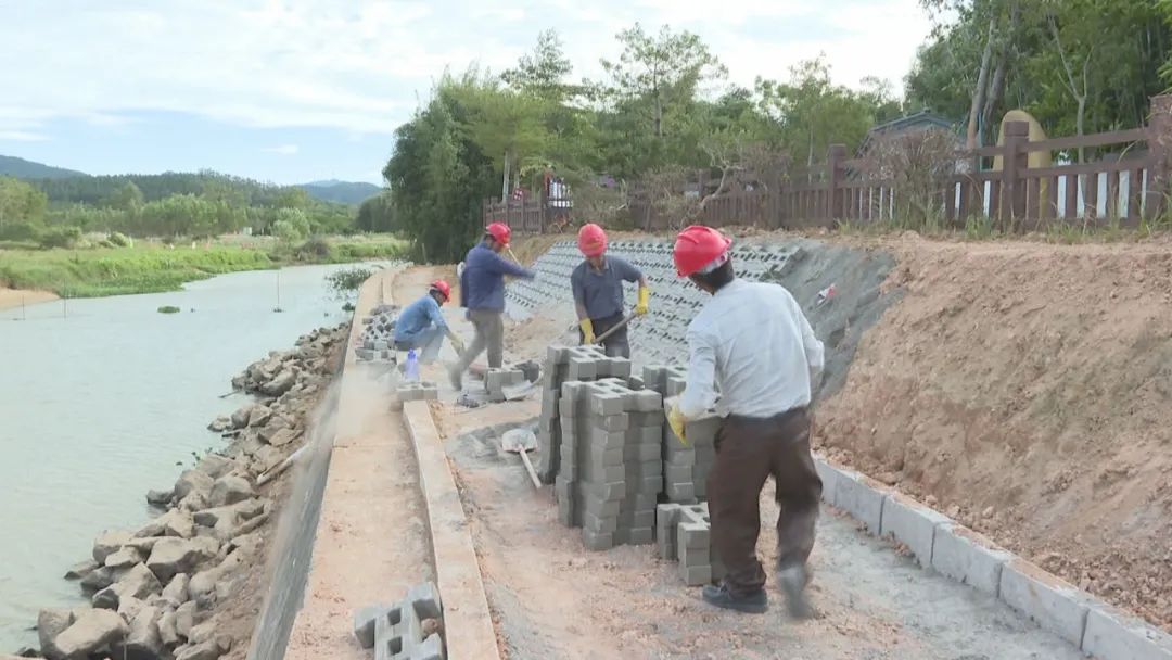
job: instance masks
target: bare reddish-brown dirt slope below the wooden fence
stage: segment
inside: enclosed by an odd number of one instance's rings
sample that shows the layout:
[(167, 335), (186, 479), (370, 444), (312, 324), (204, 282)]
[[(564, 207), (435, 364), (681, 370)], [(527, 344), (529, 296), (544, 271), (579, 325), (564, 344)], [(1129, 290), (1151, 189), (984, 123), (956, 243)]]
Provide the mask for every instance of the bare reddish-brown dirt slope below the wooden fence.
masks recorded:
[(832, 456), (1172, 624), (1172, 243), (883, 241)]

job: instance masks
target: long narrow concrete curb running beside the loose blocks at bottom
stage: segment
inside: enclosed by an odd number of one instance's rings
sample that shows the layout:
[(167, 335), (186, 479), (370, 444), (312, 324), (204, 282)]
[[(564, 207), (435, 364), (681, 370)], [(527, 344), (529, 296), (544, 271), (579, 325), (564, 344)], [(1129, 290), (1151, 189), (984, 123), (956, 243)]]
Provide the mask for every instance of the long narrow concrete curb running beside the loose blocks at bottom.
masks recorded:
[(448, 659), (499, 659), (496, 628), (472, 535), (468, 530), (468, 517), (428, 402), (404, 402), (403, 423), (415, 449), (420, 490), (428, 509), (436, 583), (443, 598)]

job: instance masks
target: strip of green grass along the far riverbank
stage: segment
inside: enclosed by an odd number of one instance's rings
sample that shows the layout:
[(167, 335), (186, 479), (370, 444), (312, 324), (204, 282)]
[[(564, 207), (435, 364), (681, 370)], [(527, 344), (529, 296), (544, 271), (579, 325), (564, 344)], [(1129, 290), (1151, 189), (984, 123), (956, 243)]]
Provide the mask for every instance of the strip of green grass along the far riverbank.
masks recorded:
[(329, 238), (325, 247), (299, 250), (271, 239), (217, 240), (210, 245), (154, 241), (135, 247), (28, 250), (0, 247), (0, 286), (52, 291), (62, 298), (94, 298), (177, 291), (183, 284), (282, 265), (345, 264), (397, 258), (407, 243), (391, 237)]

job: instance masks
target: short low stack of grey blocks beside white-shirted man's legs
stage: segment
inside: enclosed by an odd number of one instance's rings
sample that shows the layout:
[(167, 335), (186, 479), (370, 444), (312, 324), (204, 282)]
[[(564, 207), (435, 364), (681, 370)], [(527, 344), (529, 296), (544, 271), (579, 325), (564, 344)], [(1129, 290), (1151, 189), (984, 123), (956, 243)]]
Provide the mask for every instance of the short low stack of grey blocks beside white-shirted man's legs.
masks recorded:
[(655, 532), (661, 558), (679, 562), (680, 578), (688, 586), (718, 581), (724, 565), (711, 546), (708, 504), (660, 504)]

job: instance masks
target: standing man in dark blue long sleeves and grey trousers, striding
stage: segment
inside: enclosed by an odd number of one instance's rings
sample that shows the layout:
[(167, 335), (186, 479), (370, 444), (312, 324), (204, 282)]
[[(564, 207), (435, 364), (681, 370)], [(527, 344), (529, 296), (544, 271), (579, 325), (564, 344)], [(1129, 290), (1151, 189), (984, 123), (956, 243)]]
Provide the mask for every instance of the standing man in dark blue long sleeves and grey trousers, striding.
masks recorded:
[(509, 249), (511, 237), (509, 225), (492, 223), (484, 227), (483, 240), (464, 258), (464, 270), (459, 275), (459, 304), (468, 309), (466, 318), (472, 321), (476, 336), (449, 372), (451, 386), (457, 390), (463, 389), (464, 372), (485, 348), (489, 351), (489, 368), (500, 368), (504, 361), (505, 275), (537, 277), (533, 271), (500, 256), (500, 251)]

